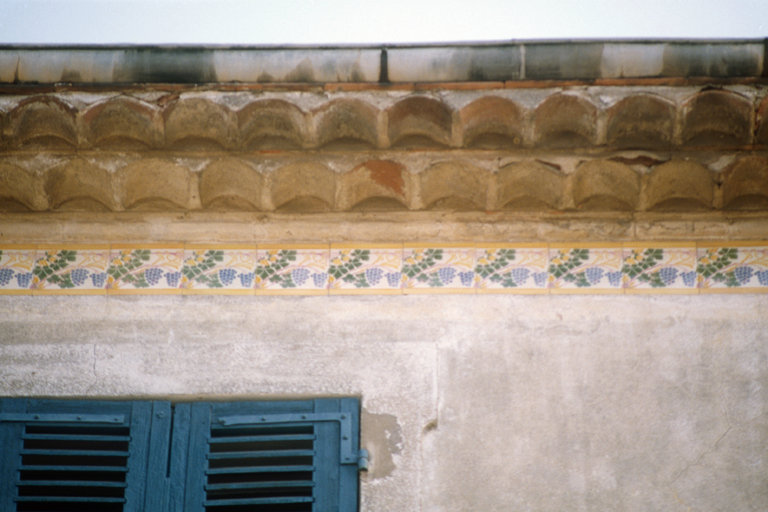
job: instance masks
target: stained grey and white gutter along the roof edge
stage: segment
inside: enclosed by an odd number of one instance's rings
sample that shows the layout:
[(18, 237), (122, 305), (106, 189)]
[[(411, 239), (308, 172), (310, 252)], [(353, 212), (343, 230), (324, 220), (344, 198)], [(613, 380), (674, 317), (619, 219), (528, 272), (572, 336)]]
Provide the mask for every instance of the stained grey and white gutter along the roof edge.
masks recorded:
[(0, 84), (414, 83), (766, 76), (768, 39), (0, 46)]

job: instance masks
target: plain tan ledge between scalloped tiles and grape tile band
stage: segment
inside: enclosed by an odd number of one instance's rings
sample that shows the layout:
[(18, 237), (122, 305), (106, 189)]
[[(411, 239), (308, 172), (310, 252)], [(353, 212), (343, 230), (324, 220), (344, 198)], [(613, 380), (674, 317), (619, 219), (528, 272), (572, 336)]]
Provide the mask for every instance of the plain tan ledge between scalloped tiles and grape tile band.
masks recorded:
[(19, 213), (0, 243), (536, 242), (768, 239), (757, 213)]

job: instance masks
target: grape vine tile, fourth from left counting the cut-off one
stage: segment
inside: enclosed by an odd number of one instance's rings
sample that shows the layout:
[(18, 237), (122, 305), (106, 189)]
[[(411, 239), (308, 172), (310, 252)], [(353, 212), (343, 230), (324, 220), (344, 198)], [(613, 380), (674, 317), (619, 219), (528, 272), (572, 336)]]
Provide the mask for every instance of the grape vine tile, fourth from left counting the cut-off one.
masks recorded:
[(255, 246), (187, 245), (181, 268), (184, 293), (253, 293)]

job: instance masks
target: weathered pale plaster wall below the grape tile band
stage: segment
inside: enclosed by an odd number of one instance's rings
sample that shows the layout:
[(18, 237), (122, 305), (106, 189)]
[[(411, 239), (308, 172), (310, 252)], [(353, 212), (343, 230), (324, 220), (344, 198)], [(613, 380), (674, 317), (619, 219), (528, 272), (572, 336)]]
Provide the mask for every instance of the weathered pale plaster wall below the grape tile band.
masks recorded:
[(368, 511), (768, 506), (768, 297), (0, 296), (0, 395), (359, 395)]

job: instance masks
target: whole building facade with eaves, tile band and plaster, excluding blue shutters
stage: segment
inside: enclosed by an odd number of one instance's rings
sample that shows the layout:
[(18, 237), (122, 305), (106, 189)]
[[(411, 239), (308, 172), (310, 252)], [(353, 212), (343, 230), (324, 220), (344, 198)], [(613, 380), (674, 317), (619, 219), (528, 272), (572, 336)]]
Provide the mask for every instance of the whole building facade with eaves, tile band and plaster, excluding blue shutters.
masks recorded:
[(763, 41), (0, 50), (0, 395), (357, 397), (362, 511), (768, 507)]

